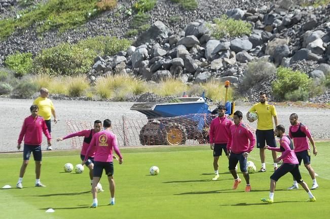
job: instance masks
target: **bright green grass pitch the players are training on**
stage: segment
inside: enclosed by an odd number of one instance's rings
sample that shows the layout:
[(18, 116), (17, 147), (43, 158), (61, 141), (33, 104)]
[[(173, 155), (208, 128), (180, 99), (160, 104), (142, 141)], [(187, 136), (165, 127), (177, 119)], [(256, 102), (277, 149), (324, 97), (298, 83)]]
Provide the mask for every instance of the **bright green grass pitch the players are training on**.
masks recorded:
[[(87, 168), (82, 174), (65, 173), (67, 162), (80, 163), (79, 151), (52, 151), (43, 154), (42, 182), (46, 188), (34, 187), (34, 162), (27, 167), (23, 189), (16, 189), (22, 154), (0, 154), (0, 186), (2, 208), (0, 218), (329, 218), (330, 217), (330, 154), (329, 142), (318, 142), (318, 155), (312, 166), (319, 174), (319, 188), (313, 191), (316, 202), (306, 202), (302, 189), (287, 191), (292, 179), (287, 174), (279, 180), (273, 204), (260, 198), (268, 197), (271, 163), (267, 172), (250, 174), (252, 191), (244, 192), (244, 180), (232, 190), (233, 179), (228, 160), (221, 157), (220, 178), (212, 181), (212, 151), (209, 146), (122, 149), (124, 163), (115, 162), (116, 205), (109, 206), (109, 189), (98, 195), (99, 206), (92, 203)], [(271, 161), (267, 152), (267, 160)], [(259, 151), (252, 151), (248, 160), (257, 168)], [(157, 165), (158, 176), (150, 176), (149, 168)], [(312, 180), (305, 167), (303, 179), (311, 187)], [(243, 178), (242, 174), (239, 174)], [(54, 213), (46, 213), (53, 208)]]

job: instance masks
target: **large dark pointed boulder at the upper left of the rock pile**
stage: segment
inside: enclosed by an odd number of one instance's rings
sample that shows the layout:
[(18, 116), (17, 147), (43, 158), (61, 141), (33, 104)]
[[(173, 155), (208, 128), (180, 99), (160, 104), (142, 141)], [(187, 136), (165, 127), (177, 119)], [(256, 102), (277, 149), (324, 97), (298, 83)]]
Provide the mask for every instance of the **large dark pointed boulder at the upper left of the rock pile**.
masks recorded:
[(149, 42), (151, 39), (155, 40), (157, 37), (163, 39), (167, 38), (171, 32), (163, 22), (156, 21), (147, 31), (143, 32), (133, 43), (133, 46), (140, 46), (145, 42)]

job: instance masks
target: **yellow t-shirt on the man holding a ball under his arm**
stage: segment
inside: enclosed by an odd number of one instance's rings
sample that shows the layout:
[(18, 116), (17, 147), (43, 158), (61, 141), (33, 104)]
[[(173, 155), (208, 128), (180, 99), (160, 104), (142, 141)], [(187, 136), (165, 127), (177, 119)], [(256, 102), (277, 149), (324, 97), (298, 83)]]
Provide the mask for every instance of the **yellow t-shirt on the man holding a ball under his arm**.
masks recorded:
[(256, 129), (259, 130), (269, 130), (273, 129), (273, 116), (276, 116), (276, 109), (274, 105), (268, 104), (266, 101), (265, 104), (256, 103), (252, 106), (249, 112), (256, 111), (258, 113), (258, 123), (256, 124)]

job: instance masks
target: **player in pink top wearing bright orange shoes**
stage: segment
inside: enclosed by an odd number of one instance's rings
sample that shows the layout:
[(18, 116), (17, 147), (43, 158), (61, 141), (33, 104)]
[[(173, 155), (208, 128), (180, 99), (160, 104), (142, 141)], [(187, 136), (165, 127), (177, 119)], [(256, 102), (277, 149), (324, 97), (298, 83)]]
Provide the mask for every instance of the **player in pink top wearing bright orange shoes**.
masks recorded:
[(241, 111), (234, 113), (234, 124), (230, 126), (229, 140), (227, 144), (227, 153), (229, 154), (229, 170), (234, 177), (233, 189), (237, 189), (241, 183), (235, 169), (238, 161), (241, 172), (246, 181), (245, 192), (251, 191), (250, 176), (247, 171), (247, 156), (253, 150), (255, 138), (252, 132), (242, 123), (243, 114)]

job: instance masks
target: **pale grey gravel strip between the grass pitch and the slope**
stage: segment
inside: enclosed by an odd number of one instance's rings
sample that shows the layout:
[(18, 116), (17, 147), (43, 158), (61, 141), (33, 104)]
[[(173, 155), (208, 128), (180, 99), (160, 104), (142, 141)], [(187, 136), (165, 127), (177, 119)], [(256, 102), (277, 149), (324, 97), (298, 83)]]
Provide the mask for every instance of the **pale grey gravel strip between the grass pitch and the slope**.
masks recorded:
[[(120, 121), (125, 116), (132, 123), (146, 123), (146, 117), (129, 108), (134, 104), (132, 102), (97, 102), (97, 101), (53, 101), (56, 114), (59, 119), (57, 124), (52, 123), (53, 139), (63, 137), (67, 134), (67, 120), (78, 120), (90, 122), (96, 119), (104, 120), (109, 118), (112, 121)], [(0, 114), (2, 124), (0, 127), (0, 152), (17, 151), (17, 139), (23, 123), (23, 119), (30, 115), (29, 107), (32, 100), (3, 99), (0, 98)], [(251, 105), (236, 105), (236, 110), (241, 110), (246, 114)], [(215, 107), (210, 107), (214, 109)], [(315, 139), (330, 139), (330, 109), (317, 108), (298, 108), (298, 107), (276, 107), (279, 121), (285, 127), (288, 127), (288, 117), (291, 113), (297, 113), (300, 120), (307, 124)], [(245, 119), (244, 119), (245, 120)], [(256, 122), (249, 123), (255, 128)], [(139, 130), (137, 130), (137, 133)], [(44, 143), (46, 139), (44, 139)], [(70, 141), (56, 142), (53, 140), (53, 146), (56, 149), (71, 149)], [(140, 146), (140, 145), (135, 145)], [(43, 145), (43, 148), (46, 146)]]

